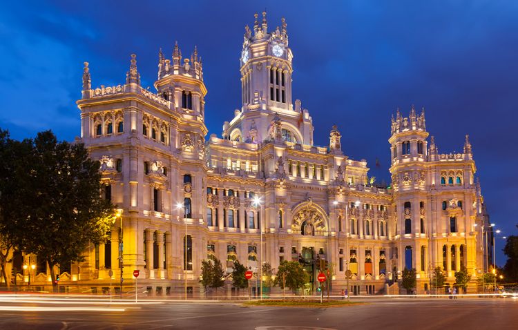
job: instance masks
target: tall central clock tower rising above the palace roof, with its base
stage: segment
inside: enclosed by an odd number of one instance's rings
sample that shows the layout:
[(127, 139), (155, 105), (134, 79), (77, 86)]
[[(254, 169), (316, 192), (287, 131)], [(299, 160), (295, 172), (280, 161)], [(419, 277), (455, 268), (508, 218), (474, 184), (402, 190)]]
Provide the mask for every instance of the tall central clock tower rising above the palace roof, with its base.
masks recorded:
[(253, 29), (244, 28), (240, 53), (241, 109), (225, 122), (223, 136), (241, 142), (259, 143), (271, 138), (274, 120), (281, 123), (282, 139), (313, 144), (313, 127), (307, 110), (291, 97), (293, 53), (288, 46), (287, 23), (268, 31), (266, 12), (262, 21), (255, 14)]

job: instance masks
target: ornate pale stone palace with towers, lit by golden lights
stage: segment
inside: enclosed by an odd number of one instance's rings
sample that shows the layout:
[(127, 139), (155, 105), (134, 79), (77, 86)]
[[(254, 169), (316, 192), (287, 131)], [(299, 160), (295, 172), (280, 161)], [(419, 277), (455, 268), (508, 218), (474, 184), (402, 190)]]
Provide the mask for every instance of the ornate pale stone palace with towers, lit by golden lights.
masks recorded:
[[(256, 15), (240, 57), (242, 106), (222, 137), (207, 139), (197, 50), (184, 58), (175, 45), (171, 59), (160, 51), (156, 93), (140, 86), (135, 55), (119, 86), (92, 88), (85, 63), (81, 141), (102, 163), (105, 197), (122, 208), (124, 283), (140, 269), (153, 293), (182, 292), (185, 275), (202, 292), (201, 261), (213, 256), (253, 271), (260, 260), (274, 269), (301, 260), (311, 280), (318, 257), (333, 264), (335, 290), (349, 270), (350, 292), (363, 294), (385, 292), (405, 266), (417, 270), (418, 291), (436, 266), (450, 283), (461, 265), (476, 274), (486, 222), (468, 136), (463, 153), (439, 154), (424, 111), (398, 111), (392, 185), (375, 186), (367, 162), (343, 152), (336, 126), (329, 146), (314, 146), (309, 110), (292, 102), (292, 59), (284, 19), (269, 32), (266, 14)], [(110, 269), (118, 282), (119, 227), (72, 267), (82, 283), (106, 287)]]

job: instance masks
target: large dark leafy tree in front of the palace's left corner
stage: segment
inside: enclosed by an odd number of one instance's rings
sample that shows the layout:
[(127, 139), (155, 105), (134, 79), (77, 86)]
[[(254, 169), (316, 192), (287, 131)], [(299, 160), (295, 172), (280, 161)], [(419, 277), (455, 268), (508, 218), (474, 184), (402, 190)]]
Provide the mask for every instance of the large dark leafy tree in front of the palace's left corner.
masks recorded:
[(115, 210), (99, 193), (99, 162), (88, 157), (84, 144), (58, 142), (48, 130), (38, 133), (32, 147), (30, 182), (23, 190), (28, 217), (15, 244), (46, 260), (55, 285), (54, 267), (83, 261), (89, 244), (106, 240)]

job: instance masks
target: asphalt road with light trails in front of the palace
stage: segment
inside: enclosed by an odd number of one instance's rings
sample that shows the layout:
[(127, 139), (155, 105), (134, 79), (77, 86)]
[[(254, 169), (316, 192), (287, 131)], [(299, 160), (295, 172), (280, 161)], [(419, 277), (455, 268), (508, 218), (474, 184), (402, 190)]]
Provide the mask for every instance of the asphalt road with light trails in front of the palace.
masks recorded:
[(0, 329), (501, 330), (518, 329), (518, 300), (382, 298), (333, 308), (243, 307), (206, 302), (3, 301)]

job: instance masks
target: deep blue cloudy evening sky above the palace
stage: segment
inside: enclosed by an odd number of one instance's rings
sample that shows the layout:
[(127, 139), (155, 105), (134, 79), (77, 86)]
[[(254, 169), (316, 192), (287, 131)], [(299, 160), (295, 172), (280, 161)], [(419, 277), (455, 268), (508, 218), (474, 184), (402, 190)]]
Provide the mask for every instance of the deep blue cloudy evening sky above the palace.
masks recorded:
[(517, 232), (518, 1), (9, 1), (0, 127), (19, 139), (50, 128), (73, 140), (83, 61), (93, 86), (123, 84), (135, 52), (142, 85), (152, 86), (158, 49), (170, 57), (178, 40), (184, 57), (198, 46), (206, 122), (220, 135), (240, 108), (244, 26), (265, 8), (269, 28), (286, 17), (294, 99), (313, 117), (316, 144), (337, 124), (345, 153), (387, 180), (390, 116), (425, 107), (440, 153), (462, 151), (470, 135), (491, 220)]

